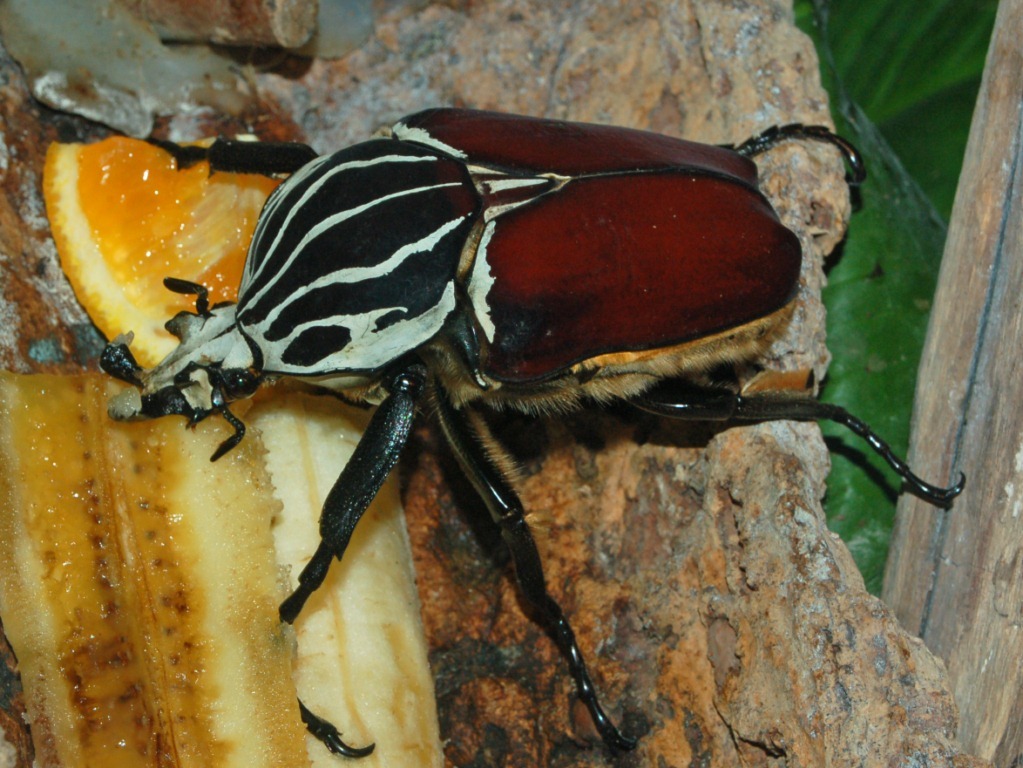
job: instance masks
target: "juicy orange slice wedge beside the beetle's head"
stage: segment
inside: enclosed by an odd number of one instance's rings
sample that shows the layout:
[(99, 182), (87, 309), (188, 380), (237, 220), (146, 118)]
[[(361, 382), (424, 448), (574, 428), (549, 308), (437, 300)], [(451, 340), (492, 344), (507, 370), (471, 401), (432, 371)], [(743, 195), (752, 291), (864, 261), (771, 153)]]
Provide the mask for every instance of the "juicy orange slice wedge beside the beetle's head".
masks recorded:
[(152, 367), (177, 346), (164, 323), (194, 300), (164, 287), (180, 277), (234, 301), (256, 221), (278, 180), (177, 170), (171, 155), (122, 137), (53, 144), (43, 190), (60, 264), (96, 326), (133, 331), (138, 362)]

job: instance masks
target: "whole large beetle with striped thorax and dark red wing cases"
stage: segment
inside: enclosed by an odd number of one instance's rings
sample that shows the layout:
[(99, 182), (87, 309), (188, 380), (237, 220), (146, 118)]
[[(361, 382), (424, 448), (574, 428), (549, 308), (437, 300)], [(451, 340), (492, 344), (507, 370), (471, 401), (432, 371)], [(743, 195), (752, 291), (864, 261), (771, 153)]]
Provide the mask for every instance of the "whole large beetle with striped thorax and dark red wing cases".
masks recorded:
[[(632, 749), (605, 712), (575, 635), (547, 592), (506, 459), (477, 406), (565, 410), (625, 400), (683, 419), (831, 419), (864, 438), (909, 489), (948, 505), (948, 487), (917, 477), (869, 426), (803, 392), (722, 386), (722, 366), (755, 361), (791, 313), (801, 247), (757, 186), (753, 159), (790, 140), (837, 146), (850, 182), (861, 159), (827, 128), (793, 124), (739, 146), (644, 131), (469, 109), (430, 109), (390, 135), (317, 156), (302, 144), (157, 142), (179, 167), (286, 175), (267, 199), (236, 304), (177, 278), (195, 312), (167, 323), (180, 345), (143, 370), (130, 337), (101, 367), (134, 385), (117, 419), (219, 414), (277, 377), (376, 406), (330, 491), (321, 541), (280, 605), (294, 622), (320, 586), (429, 401), (454, 456), (515, 563), (522, 595), (565, 656), (579, 698), (613, 752)], [(300, 703), (301, 706), (301, 703)], [(339, 730), (301, 706), (339, 755)]]

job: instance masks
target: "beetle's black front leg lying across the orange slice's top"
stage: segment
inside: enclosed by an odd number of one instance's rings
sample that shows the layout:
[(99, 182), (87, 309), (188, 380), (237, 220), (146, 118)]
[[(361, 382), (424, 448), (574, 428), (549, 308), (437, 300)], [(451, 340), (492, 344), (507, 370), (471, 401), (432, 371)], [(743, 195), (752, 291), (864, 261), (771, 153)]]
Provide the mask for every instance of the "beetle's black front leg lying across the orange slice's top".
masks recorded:
[(288, 141), (217, 139), (210, 146), (182, 146), (173, 141), (149, 139), (149, 143), (170, 152), (181, 169), (207, 160), (211, 171), (262, 176), (295, 173), (317, 157), (312, 147)]

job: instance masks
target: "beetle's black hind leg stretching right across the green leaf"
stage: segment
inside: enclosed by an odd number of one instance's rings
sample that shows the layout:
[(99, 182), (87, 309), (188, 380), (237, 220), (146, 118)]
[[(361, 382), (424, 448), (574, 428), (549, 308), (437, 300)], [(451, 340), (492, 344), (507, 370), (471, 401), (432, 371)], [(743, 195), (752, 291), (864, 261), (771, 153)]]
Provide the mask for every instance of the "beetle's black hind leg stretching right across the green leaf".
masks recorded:
[(806, 395), (757, 393), (744, 396), (724, 388), (703, 388), (687, 382), (669, 381), (633, 398), (632, 403), (652, 413), (690, 420), (730, 420), (751, 423), (772, 419), (795, 421), (828, 419), (846, 426), (865, 440), (868, 445), (906, 482), (916, 496), (936, 506), (948, 506), (951, 500), (963, 492), (966, 484), (966, 476), (962, 472), (959, 481), (947, 488), (926, 483), (915, 475), (909, 465), (895, 455), (891, 446), (863, 421), (841, 406), (821, 403)]

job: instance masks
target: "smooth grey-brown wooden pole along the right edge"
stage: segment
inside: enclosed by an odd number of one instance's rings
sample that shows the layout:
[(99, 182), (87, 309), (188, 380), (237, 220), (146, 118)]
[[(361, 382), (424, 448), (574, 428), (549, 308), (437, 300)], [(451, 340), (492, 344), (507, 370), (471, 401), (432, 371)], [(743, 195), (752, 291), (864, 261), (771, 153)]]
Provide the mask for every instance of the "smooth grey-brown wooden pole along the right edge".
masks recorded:
[(997, 766), (1023, 756), (1020, 29), (1023, 2), (1003, 0), (917, 386), (914, 463), (968, 483), (944, 513), (903, 497), (884, 591), (946, 661), (965, 749)]

